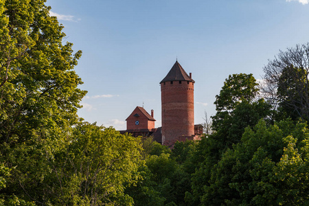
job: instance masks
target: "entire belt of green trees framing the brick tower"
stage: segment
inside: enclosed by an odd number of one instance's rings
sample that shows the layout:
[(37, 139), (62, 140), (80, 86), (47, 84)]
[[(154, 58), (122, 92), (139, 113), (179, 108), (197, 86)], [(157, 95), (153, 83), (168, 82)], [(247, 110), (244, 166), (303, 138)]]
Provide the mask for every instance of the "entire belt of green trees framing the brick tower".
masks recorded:
[(216, 96), (174, 149), (76, 114), (81, 52), (44, 0), (0, 0), (0, 205), (309, 205), (309, 43)]

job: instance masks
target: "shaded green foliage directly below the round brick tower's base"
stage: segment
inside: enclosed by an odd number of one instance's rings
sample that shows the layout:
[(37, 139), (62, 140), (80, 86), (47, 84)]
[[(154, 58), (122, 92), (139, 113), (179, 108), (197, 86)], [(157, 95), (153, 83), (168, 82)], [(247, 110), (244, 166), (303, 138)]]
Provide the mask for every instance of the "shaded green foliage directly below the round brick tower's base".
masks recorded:
[(194, 172), (192, 154), (196, 143), (176, 142), (173, 150), (165, 150), (166, 146), (154, 144), (148, 138), (143, 146), (148, 154), (146, 165), (139, 168), (142, 180), (126, 189), (134, 205), (187, 205), (185, 192), (191, 191), (190, 172)]

